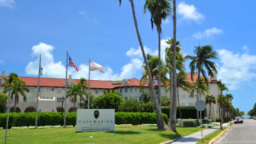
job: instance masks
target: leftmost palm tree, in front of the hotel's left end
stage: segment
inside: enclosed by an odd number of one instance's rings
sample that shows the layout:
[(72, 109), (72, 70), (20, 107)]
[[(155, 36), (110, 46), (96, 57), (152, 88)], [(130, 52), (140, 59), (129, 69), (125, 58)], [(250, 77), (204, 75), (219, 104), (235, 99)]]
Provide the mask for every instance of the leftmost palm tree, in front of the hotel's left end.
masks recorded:
[[(7, 84), (4, 88), (4, 93), (7, 91), (11, 91), (11, 98), (14, 98), (14, 112), (16, 112), (16, 104), (18, 103), (19, 94), (22, 94), (23, 99), (26, 100), (25, 92), (29, 92), (30, 90), (25, 86), (25, 82), (20, 80), (17, 76), (12, 78), (12, 83)], [(10, 81), (9, 81), (10, 82)]]

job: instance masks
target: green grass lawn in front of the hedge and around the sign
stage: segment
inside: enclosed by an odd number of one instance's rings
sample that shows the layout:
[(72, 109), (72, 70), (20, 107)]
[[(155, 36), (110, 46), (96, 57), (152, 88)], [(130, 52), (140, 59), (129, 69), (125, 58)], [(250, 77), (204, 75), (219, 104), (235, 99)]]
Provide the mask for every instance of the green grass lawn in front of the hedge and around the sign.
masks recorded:
[[(8, 130), (7, 143), (160, 143), (192, 134), (200, 128), (177, 127), (177, 130), (178, 134), (157, 130), (157, 126), (116, 126), (115, 131), (84, 133), (75, 133), (75, 128)], [(5, 130), (0, 130), (0, 143), (4, 142), (4, 136)]]

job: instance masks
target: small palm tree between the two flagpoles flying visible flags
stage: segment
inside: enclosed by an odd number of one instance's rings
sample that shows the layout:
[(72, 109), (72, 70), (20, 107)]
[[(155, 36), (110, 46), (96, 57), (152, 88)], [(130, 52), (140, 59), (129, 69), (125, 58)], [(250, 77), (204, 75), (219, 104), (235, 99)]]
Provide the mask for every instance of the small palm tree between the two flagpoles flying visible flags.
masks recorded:
[(70, 100), (73, 98), (73, 111), (75, 111), (75, 102), (77, 102), (77, 97), (80, 95), (82, 95), (80, 83), (78, 83), (78, 85), (74, 83), (72, 86), (70, 86), (70, 90), (67, 91), (66, 98), (70, 97)]

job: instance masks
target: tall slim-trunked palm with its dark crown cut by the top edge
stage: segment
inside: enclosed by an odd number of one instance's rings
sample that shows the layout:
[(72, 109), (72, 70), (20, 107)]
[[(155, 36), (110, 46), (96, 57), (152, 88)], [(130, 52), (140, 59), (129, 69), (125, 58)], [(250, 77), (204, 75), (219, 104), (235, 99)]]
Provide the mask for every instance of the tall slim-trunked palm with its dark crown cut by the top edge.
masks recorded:
[[(170, 2), (168, 0), (146, 0), (144, 12), (150, 11), (151, 27), (154, 25), (158, 30), (158, 68), (162, 67), (161, 62), (161, 34), (162, 34), (162, 19), (166, 19), (170, 14)], [(158, 104), (161, 106), (161, 69), (158, 70)]]

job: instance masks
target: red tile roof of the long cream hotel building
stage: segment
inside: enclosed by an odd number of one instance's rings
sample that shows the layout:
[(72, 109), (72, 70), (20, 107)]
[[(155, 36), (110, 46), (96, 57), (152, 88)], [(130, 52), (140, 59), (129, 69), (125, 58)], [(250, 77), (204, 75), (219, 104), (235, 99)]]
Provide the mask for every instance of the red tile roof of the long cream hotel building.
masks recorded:
[[(197, 74), (194, 74), (194, 80), (190, 78), (190, 73), (187, 73), (187, 77), (189, 82), (196, 82), (198, 78)], [(1, 78), (1, 76), (0, 76)], [(38, 86), (38, 78), (34, 77), (19, 77), (22, 81), (26, 83), (26, 86)], [(79, 79), (72, 79), (76, 84), (79, 82)], [(208, 78), (208, 82), (220, 82), (220, 81), (210, 81)], [(118, 87), (129, 87), (129, 86), (140, 86), (140, 82), (137, 78), (128, 79), (130, 82), (129, 85), (122, 84), (112, 84), (112, 81), (102, 81), (102, 80), (90, 80), (90, 88), (92, 89), (114, 89)], [(40, 86), (45, 87), (65, 87), (65, 78), (40, 78)], [(148, 82), (146, 82), (146, 86), (148, 86)]]

